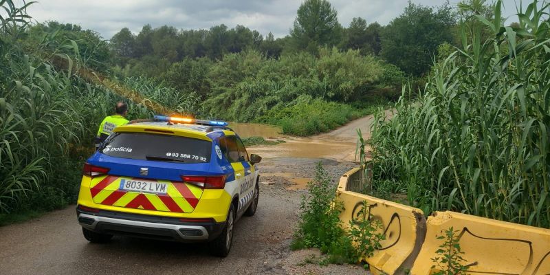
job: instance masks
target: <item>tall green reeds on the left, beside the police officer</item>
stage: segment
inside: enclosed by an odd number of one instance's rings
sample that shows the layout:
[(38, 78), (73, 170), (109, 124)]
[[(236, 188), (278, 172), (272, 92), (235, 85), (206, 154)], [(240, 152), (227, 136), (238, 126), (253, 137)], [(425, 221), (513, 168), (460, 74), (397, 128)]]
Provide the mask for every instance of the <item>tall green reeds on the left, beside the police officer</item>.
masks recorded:
[[(75, 199), (98, 123), (115, 102), (129, 101), (82, 78), (83, 61), (25, 43), (29, 4), (19, 8), (0, 0), (6, 11), (0, 17), (0, 217), (21, 208), (50, 210)], [(62, 47), (78, 53), (73, 42)], [(130, 118), (150, 115), (143, 104), (129, 103)]]

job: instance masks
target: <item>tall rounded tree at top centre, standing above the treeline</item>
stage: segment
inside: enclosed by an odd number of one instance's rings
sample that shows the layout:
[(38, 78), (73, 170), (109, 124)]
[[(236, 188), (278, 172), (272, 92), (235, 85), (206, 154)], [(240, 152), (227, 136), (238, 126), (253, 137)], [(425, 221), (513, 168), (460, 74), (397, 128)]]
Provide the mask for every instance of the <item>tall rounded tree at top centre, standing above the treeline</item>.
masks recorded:
[(320, 45), (336, 45), (342, 31), (337, 15), (327, 0), (305, 0), (290, 30), (296, 50), (317, 52)]

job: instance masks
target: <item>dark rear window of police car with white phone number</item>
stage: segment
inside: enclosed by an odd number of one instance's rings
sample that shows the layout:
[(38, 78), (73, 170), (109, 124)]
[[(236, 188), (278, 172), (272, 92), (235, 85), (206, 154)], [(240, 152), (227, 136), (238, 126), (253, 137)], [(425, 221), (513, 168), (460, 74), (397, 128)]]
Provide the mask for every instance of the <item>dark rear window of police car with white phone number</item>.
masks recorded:
[(115, 133), (100, 152), (111, 157), (196, 164), (210, 162), (212, 142), (176, 135)]

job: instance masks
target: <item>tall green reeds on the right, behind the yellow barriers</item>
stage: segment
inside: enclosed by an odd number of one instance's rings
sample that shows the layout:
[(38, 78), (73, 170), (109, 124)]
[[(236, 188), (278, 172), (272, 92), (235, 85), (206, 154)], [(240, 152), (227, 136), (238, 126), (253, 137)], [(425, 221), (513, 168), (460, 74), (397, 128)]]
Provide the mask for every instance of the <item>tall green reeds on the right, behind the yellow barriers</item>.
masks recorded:
[(494, 19), (466, 19), (480, 23), (463, 23), (462, 47), (434, 65), (417, 101), (404, 89), (391, 120), (376, 116), (373, 192), (406, 190), (426, 213), (549, 228), (550, 8), (533, 1), (512, 28), (500, 6)]

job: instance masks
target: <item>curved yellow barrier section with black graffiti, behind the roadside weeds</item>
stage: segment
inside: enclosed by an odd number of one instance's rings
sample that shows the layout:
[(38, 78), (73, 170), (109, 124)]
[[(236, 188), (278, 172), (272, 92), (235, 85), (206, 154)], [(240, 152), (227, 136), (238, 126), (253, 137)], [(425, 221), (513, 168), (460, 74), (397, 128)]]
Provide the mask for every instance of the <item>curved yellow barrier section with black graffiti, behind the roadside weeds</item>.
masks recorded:
[(417, 208), (353, 192), (353, 189), (364, 188), (362, 183), (366, 181), (361, 180), (361, 173), (360, 168), (353, 168), (340, 178), (337, 195), (344, 203), (344, 211), (340, 214), (342, 225), (348, 228), (366, 201), (373, 219), (382, 221), (386, 235), (386, 240), (381, 242), (382, 248), (366, 259), (371, 272), (406, 274), (420, 252), (426, 234), (426, 219)]

